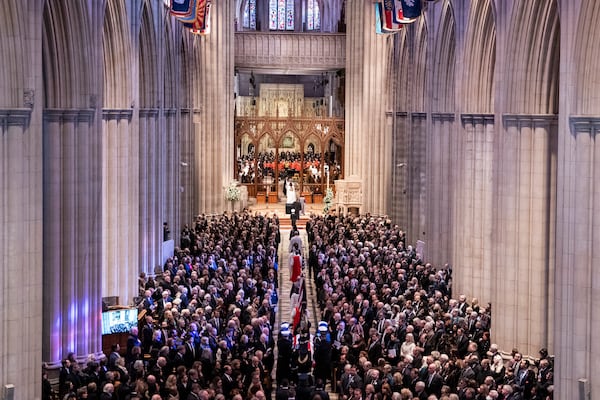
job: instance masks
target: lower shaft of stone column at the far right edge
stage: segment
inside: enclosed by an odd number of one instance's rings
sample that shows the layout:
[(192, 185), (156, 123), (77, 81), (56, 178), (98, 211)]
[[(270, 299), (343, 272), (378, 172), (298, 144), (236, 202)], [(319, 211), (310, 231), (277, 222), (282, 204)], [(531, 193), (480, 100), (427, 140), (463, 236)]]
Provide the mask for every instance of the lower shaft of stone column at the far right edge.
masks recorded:
[[(600, 393), (594, 371), (600, 359), (596, 313), (600, 278), (600, 117), (572, 116), (561, 135), (556, 255), (556, 398), (572, 398), (578, 380), (591, 397)], [(564, 356), (562, 356), (564, 355)]]

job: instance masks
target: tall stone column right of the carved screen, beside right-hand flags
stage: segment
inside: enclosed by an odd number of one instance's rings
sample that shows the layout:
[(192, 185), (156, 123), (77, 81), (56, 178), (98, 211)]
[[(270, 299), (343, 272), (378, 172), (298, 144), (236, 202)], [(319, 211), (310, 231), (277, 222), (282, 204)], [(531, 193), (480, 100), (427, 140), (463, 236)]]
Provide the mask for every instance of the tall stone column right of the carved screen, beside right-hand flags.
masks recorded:
[[(387, 213), (391, 200), (391, 127), (388, 108), (388, 63), (393, 35), (377, 35), (372, 2), (348, 0), (346, 16), (346, 176), (363, 183), (364, 211)], [(388, 144), (386, 146), (386, 144)]]

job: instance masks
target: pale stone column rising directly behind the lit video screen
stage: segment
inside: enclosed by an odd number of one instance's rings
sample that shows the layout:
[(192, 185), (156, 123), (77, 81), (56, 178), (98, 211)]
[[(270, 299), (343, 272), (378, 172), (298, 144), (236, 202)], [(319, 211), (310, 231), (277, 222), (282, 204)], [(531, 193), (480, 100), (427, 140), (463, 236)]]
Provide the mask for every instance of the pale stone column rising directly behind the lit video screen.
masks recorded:
[[(137, 296), (138, 140), (131, 109), (104, 109), (102, 118), (102, 296), (129, 304)], [(124, 255), (127, 254), (125, 257)]]

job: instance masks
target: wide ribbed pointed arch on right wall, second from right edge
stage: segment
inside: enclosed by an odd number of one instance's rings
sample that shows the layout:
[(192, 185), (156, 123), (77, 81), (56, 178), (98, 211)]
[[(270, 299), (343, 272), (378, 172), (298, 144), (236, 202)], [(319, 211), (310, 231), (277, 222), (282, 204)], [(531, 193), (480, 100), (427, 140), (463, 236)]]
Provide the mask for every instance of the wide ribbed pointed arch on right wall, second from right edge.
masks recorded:
[(517, 3), (510, 29), (509, 64), (523, 71), (512, 79), (511, 113), (558, 113), (560, 25), (557, 0)]

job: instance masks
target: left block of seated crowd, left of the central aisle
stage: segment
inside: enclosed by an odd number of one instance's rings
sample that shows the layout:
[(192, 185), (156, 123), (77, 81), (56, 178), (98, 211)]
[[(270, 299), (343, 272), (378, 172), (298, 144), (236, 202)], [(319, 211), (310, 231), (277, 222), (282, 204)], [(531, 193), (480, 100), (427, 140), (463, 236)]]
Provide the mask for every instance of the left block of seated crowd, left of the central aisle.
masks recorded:
[(65, 359), (60, 399), (270, 399), (279, 241), (276, 216), (198, 217), (160, 273), (140, 277), (145, 321), (127, 348)]

